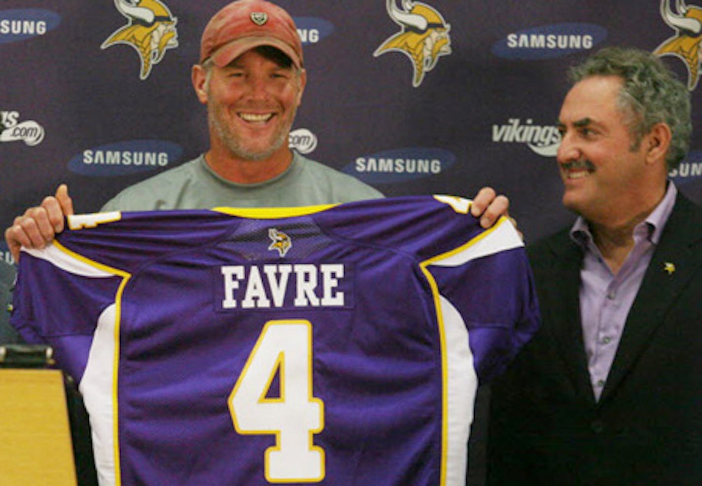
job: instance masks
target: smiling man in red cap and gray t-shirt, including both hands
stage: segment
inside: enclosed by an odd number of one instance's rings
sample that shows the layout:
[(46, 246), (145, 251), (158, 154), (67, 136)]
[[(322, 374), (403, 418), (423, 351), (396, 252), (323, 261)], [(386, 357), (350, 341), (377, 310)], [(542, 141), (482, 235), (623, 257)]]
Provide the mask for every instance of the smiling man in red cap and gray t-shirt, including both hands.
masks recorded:
[[(216, 206), (311, 206), (383, 197), (352, 176), (291, 150), (287, 140), (305, 90), (303, 49), (290, 15), (263, 0), (238, 0), (205, 27), (192, 84), (207, 106), (210, 148), (190, 162), (132, 185), (103, 211), (208, 209)], [(471, 211), (488, 228), (508, 200), (482, 189)], [(19, 258), (22, 245), (44, 247), (73, 213), (65, 185), (5, 232)]]

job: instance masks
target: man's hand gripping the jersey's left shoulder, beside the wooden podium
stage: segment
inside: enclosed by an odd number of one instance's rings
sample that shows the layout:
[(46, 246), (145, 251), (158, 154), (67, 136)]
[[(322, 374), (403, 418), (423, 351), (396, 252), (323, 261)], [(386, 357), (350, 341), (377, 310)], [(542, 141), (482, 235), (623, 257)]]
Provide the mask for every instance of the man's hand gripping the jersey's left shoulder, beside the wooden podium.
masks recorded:
[(20, 247), (44, 248), (64, 229), (64, 218), (73, 214), (68, 187), (61, 184), (56, 194), (47, 196), (41, 205), (27, 209), (5, 230), (5, 241), (15, 262), (20, 261)]

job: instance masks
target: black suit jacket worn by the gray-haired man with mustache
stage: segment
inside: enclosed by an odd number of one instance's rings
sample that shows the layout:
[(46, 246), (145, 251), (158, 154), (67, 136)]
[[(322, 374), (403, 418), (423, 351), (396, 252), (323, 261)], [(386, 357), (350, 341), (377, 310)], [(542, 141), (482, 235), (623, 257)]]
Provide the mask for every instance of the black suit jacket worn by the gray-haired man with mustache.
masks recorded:
[(678, 195), (599, 402), (568, 232), (529, 249), (543, 324), (494, 383), (489, 484), (702, 485), (702, 209)]

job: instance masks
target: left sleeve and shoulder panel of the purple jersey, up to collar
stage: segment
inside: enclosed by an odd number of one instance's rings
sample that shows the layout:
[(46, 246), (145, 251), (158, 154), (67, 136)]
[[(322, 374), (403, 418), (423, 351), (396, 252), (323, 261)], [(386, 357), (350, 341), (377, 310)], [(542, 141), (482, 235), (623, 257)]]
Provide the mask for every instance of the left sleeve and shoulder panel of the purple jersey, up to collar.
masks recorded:
[(67, 230), (46, 249), (22, 249), (11, 324), (27, 342), (53, 346), (57, 364), (80, 381), (98, 322), (114, 313), (128, 280), (231, 225), (212, 211), (69, 216)]

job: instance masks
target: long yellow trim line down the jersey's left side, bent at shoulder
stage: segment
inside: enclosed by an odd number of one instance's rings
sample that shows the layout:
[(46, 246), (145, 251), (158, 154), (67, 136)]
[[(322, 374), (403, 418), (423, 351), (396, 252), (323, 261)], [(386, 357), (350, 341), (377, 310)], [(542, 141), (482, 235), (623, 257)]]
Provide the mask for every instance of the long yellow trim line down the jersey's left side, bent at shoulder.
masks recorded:
[(75, 251), (64, 247), (58, 241), (53, 242), (54, 246), (62, 251), (63, 253), (75, 258), (86, 265), (90, 265), (93, 268), (98, 268), (103, 272), (112, 273), (118, 277), (122, 277), (122, 282), (119, 284), (117, 289), (117, 294), (114, 296), (114, 358), (112, 362), (112, 447), (114, 448), (114, 484), (115, 486), (121, 486), (121, 466), (119, 461), (119, 402), (117, 393), (117, 383), (119, 378), (119, 324), (121, 322), (121, 310), (122, 310), (122, 294), (124, 293), (124, 287), (126, 287), (127, 282), (131, 278), (131, 273), (125, 272), (124, 270), (119, 270), (119, 268), (113, 268), (109, 265), (104, 265), (98, 263), (86, 256), (77, 254)]

